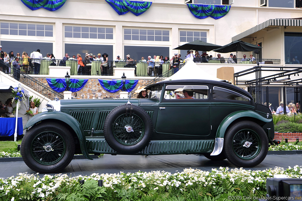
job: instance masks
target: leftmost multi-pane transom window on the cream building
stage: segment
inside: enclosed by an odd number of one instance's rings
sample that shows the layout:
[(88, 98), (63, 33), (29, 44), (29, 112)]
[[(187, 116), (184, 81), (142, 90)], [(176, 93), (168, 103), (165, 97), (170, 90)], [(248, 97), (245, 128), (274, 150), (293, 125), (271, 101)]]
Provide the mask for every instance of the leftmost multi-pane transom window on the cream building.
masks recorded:
[(53, 37), (53, 25), (1, 22), (0, 34)]

